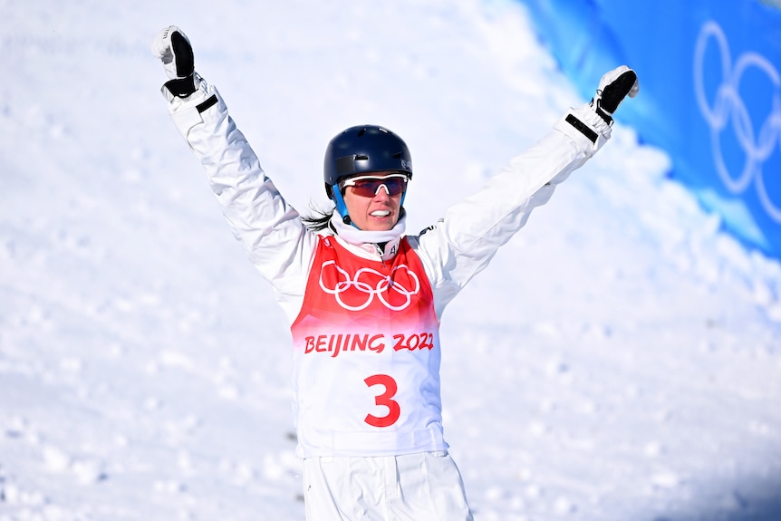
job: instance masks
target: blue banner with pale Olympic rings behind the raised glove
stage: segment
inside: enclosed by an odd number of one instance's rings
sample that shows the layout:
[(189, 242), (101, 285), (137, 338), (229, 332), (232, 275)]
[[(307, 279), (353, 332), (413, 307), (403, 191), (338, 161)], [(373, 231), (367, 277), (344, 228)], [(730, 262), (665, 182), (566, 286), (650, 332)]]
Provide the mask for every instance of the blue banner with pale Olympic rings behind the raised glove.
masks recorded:
[(619, 121), (659, 146), (699, 202), (781, 258), (781, 0), (522, 0), (583, 98), (627, 64)]

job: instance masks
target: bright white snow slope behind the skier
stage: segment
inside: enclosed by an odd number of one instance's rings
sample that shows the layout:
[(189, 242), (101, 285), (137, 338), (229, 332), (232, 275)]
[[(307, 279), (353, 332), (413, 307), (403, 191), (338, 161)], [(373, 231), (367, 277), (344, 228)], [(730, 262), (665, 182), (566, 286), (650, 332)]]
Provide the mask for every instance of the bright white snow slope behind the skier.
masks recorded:
[[(153, 36), (299, 209), (338, 131), (400, 133), (410, 231), (584, 100), (507, 0), (0, 6), (0, 520), (303, 519), (289, 331)], [(669, 170), (619, 121), (446, 311), (478, 520), (781, 519), (781, 267)]]

